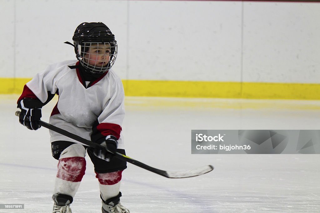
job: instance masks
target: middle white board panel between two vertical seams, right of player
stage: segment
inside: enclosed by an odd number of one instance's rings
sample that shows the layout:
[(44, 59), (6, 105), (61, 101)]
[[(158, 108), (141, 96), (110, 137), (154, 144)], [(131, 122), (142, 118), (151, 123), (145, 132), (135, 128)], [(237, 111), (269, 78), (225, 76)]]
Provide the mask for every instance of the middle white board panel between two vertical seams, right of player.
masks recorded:
[(240, 2), (135, 1), (129, 30), (128, 79), (240, 80)]

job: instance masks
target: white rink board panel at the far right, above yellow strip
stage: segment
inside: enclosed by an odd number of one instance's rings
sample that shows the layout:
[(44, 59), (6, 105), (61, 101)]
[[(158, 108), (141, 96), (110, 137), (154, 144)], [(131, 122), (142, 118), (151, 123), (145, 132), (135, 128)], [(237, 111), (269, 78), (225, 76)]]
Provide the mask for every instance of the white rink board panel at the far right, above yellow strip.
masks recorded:
[(319, 83), (319, 11), (316, 3), (245, 2), (243, 81)]

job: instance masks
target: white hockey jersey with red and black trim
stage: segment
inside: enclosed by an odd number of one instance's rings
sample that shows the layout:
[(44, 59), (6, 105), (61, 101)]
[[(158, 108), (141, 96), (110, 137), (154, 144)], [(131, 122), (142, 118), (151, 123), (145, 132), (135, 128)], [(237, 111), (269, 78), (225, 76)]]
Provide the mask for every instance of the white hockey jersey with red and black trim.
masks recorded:
[[(89, 84), (83, 82), (77, 60), (49, 65), (29, 81), (19, 100), (38, 98), (42, 103), (58, 94), (49, 123), (91, 141), (101, 141), (107, 135), (118, 138), (118, 148), (124, 149), (122, 122), (124, 119), (124, 89), (120, 78), (112, 71)], [(49, 130), (50, 141), (73, 139)]]

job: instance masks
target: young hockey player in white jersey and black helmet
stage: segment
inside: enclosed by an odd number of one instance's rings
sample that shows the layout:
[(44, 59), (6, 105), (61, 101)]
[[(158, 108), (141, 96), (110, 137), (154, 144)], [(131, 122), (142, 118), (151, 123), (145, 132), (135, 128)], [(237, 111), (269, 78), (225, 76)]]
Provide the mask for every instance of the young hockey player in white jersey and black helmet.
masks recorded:
[[(57, 94), (59, 100), (50, 124), (99, 143), (112, 153), (125, 154), (121, 133), (124, 89), (120, 78), (110, 70), (117, 55), (115, 36), (101, 22), (84, 22), (76, 28), (72, 40), (78, 60), (49, 65), (24, 86), (17, 102), (21, 109), (19, 121), (28, 129), (40, 128), (41, 108)], [(120, 203), (126, 162), (105, 150), (89, 149), (49, 132), (52, 156), (59, 160), (53, 212), (71, 213), (70, 204), (84, 176), (87, 152), (99, 180), (102, 212), (129, 213)]]

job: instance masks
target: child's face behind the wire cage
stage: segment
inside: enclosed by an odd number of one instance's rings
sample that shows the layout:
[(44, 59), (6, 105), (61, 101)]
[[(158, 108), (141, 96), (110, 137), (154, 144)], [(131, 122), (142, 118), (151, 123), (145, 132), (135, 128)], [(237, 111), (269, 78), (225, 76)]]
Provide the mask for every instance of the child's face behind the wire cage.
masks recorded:
[(92, 66), (106, 66), (110, 60), (110, 45), (92, 44), (89, 50), (84, 54), (84, 60)]

